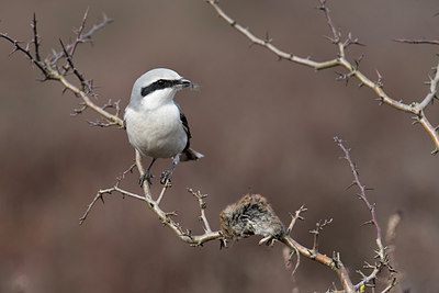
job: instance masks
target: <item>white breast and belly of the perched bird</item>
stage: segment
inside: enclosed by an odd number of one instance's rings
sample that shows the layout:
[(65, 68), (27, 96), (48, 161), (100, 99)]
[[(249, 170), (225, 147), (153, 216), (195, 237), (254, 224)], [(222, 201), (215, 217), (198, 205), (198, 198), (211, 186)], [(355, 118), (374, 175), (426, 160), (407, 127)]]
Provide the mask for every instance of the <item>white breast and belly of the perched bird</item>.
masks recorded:
[(180, 154), (188, 142), (177, 105), (168, 103), (154, 109), (125, 110), (130, 143), (144, 156), (170, 158)]

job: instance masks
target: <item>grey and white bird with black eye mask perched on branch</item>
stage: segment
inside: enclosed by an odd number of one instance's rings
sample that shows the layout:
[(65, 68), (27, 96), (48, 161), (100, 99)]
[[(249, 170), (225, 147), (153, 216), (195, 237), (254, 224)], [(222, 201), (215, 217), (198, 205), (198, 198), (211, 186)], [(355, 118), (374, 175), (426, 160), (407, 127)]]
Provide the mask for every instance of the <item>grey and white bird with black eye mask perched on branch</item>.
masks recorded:
[(192, 81), (167, 68), (156, 68), (140, 76), (133, 86), (124, 123), (130, 144), (142, 156), (150, 157), (145, 180), (151, 184), (150, 169), (159, 158), (172, 158), (172, 166), (160, 176), (160, 183), (171, 182), (180, 161), (199, 160), (204, 155), (190, 148), (191, 132), (181, 108), (173, 101), (177, 91), (195, 88)]

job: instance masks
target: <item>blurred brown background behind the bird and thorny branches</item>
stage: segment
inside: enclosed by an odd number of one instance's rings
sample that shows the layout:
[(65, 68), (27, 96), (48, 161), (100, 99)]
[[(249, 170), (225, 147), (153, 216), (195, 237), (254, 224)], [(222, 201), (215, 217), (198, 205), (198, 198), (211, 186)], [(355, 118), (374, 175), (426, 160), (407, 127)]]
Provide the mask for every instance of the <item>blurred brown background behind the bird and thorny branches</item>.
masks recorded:
[[(423, 83), (437, 65), (438, 48), (396, 44), (394, 37), (437, 38), (438, 2), (329, 1), (344, 35), (352, 32), (365, 47), (361, 70), (396, 100), (419, 101)], [(333, 58), (336, 47), (316, 1), (222, 1), (230, 16), (259, 36), (269, 32), (280, 48), (316, 60)], [(2, 0), (0, 31), (30, 40), (33, 12), (38, 18), (43, 55), (58, 38), (68, 42), (83, 12), (88, 27), (105, 12), (114, 22), (80, 46), (77, 66), (92, 78), (100, 102), (121, 99), (126, 106), (134, 80), (155, 67), (169, 67), (200, 84), (177, 101), (189, 119), (192, 146), (205, 158), (181, 164), (164, 201), (184, 227), (201, 233), (190, 187), (209, 193), (207, 216), (217, 215), (247, 192), (269, 199), (288, 223), (289, 212), (306, 204), (306, 221), (294, 237), (312, 245), (315, 222), (334, 217), (320, 250), (356, 270), (373, 262), (375, 230), (363, 204), (346, 190), (352, 177), (333, 142), (349, 140), (363, 183), (378, 205), (383, 228), (396, 211), (396, 263), (402, 288), (437, 292), (439, 267), (439, 158), (410, 116), (379, 106), (369, 89), (351, 80), (336, 82), (336, 71), (278, 61), (263, 48), (218, 19), (202, 0), (191, 1), (12, 1)], [(181, 243), (142, 202), (117, 194), (105, 198), (85, 225), (78, 218), (97, 190), (111, 187), (134, 151), (123, 131), (90, 127), (87, 111), (71, 117), (78, 100), (55, 82), (36, 81), (11, 44), (0, 41), (0, 291), (1, 292), (301, 292), (326, 291), (334, 272), (302, 259), (294, 280), (284, 269), (281, 245), (257, 246), (257, 237), (219, 250), (218, 243), (192, 248)], [(439, 122), (438, 105), (428, 115)], [(159, 174), (170, 160), (154, 168)], [(137, 173), (123, 185), (140, 192)], [(154, 188), (157, 190), (158, 184)]]

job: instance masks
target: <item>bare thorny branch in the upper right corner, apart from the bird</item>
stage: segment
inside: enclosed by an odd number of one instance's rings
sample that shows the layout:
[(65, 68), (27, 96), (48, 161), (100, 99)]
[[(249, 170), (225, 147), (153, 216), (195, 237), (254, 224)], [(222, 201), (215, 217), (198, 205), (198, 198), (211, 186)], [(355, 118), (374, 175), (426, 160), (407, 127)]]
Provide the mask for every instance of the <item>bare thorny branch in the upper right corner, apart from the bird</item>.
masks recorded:
[[(286, 53), (284, 50), (281, 50), (277, 46), (272, 44), (272, 40), (263, 40), (260, 38), (256, 35), (254, 35), (247, 27), (240, 25), (237, 21), (228, 16), (228, 14), (218, 5), (217, 0), (205, 0), (212, 8), (216, 11), (216, 13), (222, 18), (225, 22), (227, 22), (232, 27), (234, 27), (236, 31), (245, 35), (248, 40), (250, 40), (251, 44), (259, 45), (262, 47), (266, 47), (268, 50), (271, 53), (275, 54), (280, 59), (285, 59), (290, 60), (292, 63), (301, 64), (307, 67), (312, 67), (316, 70), (322, 70), (322, 69), (328, 69), (328, 68), (334, 68), (334, 67), (344, 67), (345, 69), (348, 70), (347, 74), (341, 74), (339, 76), (339, 79), (346, 79), (348, 80), (349, 78), (357, 78), (360, 81), (360, 87), (368, 87), (371, 90), (374, 91), (374, 93), (379, 97), (378, 100), (380, 101), (380, 104), (384, 103), (387, 104), (396, 110), (409, 113), (415, 115), (416, 122), (418, 122), (424, 129), (429, 134), (432, 143), (435, 144), (435, 150), (431, 151), (431, 154), (437, 154), (439, 153), (439, 133), (435, 126), (431, 125), (431, 123), (428, 121), (427, 116), (425, 115), (425, 109), (427, 105), (432, 102), (432, 99), (436, 98), (437, 94), (437, 84), (439, 82), (439, 70), (435, 70), (435, 77), (429, 81), (430, 83), (430, 92), (427, 94), (427, 97), (423, 100), (423, 102), (413, 102), (413, 103), (403, 103), (396, 99), (392, 99), (389, 97), (382, 86), (382, 78), (380, 78), (380, 75), (378, 77), (378, 81), (372, 81), (372, 79), (368, 78), (364, 76), (358, 68), (359, 63), (354, 61), (354, 64), (350, 63), (347, 57), (346, 57), (346, 48), (349, 45), (357, 44), (361, 45), (357, 38), (352, 38), (351, 34), (348, 34), (348, 37), (342, 41), (341, 40), (341, 33), (336, 29), (334, 25), (333, 19), (330, 16), (329, 9), (326, 5), (326, 0), (318, 0), (318, 7), (320, 11), (324, 12), (326, 22), (331, 31), (333, 36), (327, 37), (331, 43), (334, 43), (337, 48), (338, 48), (338, 54), (337, 57), (330, 60), (326, 61), (315, 61), (312, 60), (309, 57), (303, 58), (299, 57), (296, 55)], [(406, 42), (404, 40), (399, 40), (399, 42), (405, 42), (405, 43), (410, 43)], [(413, 44), (420, 44), (420, 43), (430, 43), (434, 44), (436, 42), (416, 42), (413, 41)], [(438, 42), (439, 43), (439, 42)], [(438, 64), (439, 67), (439, 64)]]

